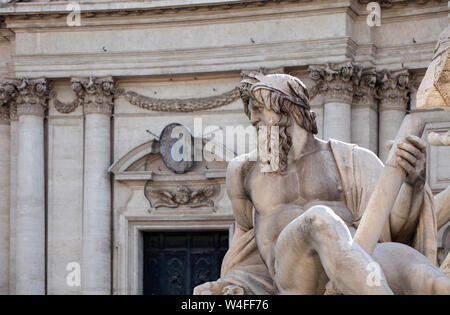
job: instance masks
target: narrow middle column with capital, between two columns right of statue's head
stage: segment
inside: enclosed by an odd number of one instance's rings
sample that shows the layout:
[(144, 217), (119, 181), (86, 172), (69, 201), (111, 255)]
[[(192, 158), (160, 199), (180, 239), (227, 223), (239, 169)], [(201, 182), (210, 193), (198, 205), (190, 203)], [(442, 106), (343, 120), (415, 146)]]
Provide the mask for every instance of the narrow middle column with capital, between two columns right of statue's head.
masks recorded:
[(352, 104), (352, 143), (378, 152), (377, 73), (367, 68), (355, 85)]

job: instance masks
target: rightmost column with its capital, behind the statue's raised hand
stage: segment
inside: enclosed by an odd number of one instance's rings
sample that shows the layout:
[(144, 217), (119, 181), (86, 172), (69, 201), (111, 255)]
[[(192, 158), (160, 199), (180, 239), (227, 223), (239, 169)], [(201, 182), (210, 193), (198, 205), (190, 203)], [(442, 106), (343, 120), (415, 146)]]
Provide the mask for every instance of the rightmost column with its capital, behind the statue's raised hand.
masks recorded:
[(384, 162), (389, 150), (387, 141), (393, 140), (406, 115), (408, 106), (408, 70), (382, 71), (379, 75), (379, 142), (378, 152)]

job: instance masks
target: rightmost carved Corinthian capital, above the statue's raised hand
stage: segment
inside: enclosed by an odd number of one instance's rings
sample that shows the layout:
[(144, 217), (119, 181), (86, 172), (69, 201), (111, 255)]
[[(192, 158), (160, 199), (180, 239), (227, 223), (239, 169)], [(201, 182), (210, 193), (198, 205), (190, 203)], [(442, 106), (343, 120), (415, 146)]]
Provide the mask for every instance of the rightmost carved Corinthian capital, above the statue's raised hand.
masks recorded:
[(380, 110), (406, 111), (409, 100), (408, 70), (383, 70), (378, 74), (378, 81), (378, 97), (380, 99)]

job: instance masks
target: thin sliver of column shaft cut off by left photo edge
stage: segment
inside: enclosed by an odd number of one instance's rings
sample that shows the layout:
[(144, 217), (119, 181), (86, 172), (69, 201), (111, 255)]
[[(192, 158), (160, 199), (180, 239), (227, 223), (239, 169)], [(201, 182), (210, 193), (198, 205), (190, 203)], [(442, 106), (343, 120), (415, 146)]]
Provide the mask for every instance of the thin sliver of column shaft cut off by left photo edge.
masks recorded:
[(0, 295), (4, 295), (9, 294), (10, 122), (9, 105), (1, 103), (0, 98)]

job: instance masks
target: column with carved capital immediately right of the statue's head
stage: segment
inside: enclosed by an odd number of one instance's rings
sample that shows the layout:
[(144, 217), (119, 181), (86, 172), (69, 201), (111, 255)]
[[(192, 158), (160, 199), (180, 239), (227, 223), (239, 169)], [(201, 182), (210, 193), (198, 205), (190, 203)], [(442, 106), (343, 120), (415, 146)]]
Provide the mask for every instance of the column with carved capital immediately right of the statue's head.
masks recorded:
[(310, 77), (324, 100), (323, 138), (351, 141), (351, 104), (358, 75), (352, 62), (310, 66)]

